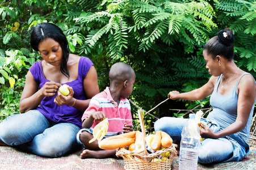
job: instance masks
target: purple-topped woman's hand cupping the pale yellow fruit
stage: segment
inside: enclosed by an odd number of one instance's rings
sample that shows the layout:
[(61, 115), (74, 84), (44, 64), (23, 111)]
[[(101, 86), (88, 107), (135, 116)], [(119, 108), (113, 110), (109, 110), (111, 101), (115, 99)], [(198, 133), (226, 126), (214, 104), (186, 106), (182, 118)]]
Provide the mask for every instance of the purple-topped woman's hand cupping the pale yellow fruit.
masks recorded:
[(73, 100), (73, 95), (74, 95), (74, 91), (73, 88), (68, 86), (70, 93), (67, 96), (64, 96), (61, 94), (60, 91), (57, 92), (56, 97), (54, 98), (54, 103), (56, 103), (57, 105), (61, 106), (61, 105), (73, 105), (74, 100)]

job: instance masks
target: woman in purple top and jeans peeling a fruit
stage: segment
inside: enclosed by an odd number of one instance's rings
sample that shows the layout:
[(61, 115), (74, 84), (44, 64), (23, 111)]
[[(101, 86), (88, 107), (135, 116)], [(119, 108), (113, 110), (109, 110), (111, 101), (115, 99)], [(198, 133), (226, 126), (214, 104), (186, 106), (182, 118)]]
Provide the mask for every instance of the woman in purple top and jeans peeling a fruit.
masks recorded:
[[(42, 61), (26, 75), (20, 113), (0, 124), (0, 146), (15, 146), (32, 154), (58, 157), (77, 151), (76, 135), (91, 97), (99, 93), (98, 76), (87, 57), (69, 53), (66, 36), (52, 23), (37, 24), (31, 46)], [(58, 88), (68, 85), (70, 93)]]

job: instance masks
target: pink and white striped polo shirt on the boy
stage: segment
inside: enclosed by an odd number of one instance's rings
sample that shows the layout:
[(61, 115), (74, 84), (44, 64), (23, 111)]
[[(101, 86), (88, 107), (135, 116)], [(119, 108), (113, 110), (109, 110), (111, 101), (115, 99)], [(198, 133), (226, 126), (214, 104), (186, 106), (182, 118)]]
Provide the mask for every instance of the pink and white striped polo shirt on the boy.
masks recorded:
[[(102, 111), (106, 114), (108, 118), (108, 132), (122, 132), (124, 127), (124, 122), (129, 125), (132, 125), (132, 114), (131, 114), (131, 105), (128, 99), (120, 99), (120, 103), (117, 106), (117, 103), (113, 100), (109, 87), (103, 92), (95, 95), (91, 98), (89, 107), (83, 113), (82, 122), (90, 116), (92, 112)], [(91, 128), (94, 128), (99, 121), (94, 121), (94, 124)]]

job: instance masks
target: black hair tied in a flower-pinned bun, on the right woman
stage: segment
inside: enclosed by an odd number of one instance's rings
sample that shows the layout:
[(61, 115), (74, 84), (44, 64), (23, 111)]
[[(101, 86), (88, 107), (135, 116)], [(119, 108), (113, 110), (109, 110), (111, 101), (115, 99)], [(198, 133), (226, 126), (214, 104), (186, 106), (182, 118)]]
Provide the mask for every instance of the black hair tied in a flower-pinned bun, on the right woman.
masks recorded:
[(234, 36), (231, 29), (226, 28), (212, 37), (205, 45), (207, 54), (214, 59), (216, 56), (223, 56), (229, 61), (234, 58)]

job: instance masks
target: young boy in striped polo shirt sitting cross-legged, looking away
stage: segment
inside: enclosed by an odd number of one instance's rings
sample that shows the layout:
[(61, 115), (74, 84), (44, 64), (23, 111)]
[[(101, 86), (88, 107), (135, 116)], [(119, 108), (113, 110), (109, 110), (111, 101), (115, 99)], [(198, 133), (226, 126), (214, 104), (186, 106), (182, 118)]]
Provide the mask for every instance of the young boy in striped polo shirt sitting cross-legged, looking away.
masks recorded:
[(118, 62), (112, 65), (109, 75), (110, 87), (95, 95), (83, 113), (83, 129), (77, 134), (78, 143), (85, 147), (81, 159), (115, 155), (116, 150), (101, 150), (97, 140), (89, 143), (93, 138), (93, 128), (104, 118), (108, 118), (109, 123), (105, 137), (133, 131), (131, 105), (127, 97), (133, 90), (135, 72), (126, 63)]

